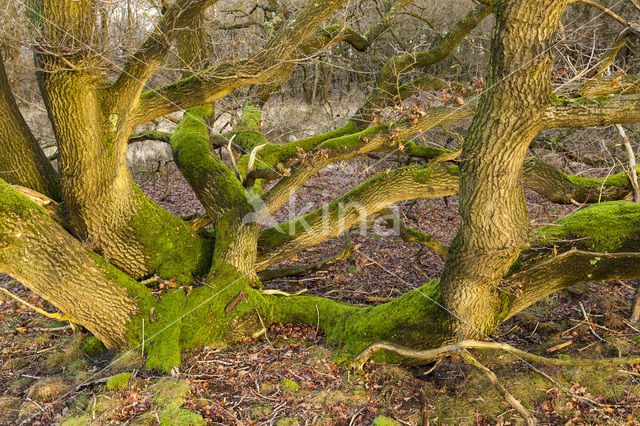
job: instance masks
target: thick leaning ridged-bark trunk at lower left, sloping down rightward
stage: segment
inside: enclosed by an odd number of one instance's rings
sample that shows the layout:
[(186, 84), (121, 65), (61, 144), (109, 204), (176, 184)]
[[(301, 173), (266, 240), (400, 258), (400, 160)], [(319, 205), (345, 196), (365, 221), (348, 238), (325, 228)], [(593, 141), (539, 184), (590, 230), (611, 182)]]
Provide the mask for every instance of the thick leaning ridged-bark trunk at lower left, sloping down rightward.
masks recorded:
[(18, 190), (0, 180), (0, 271), (42, 296), (108, 348), (127, 344), (139, 283), (87, 250)]

